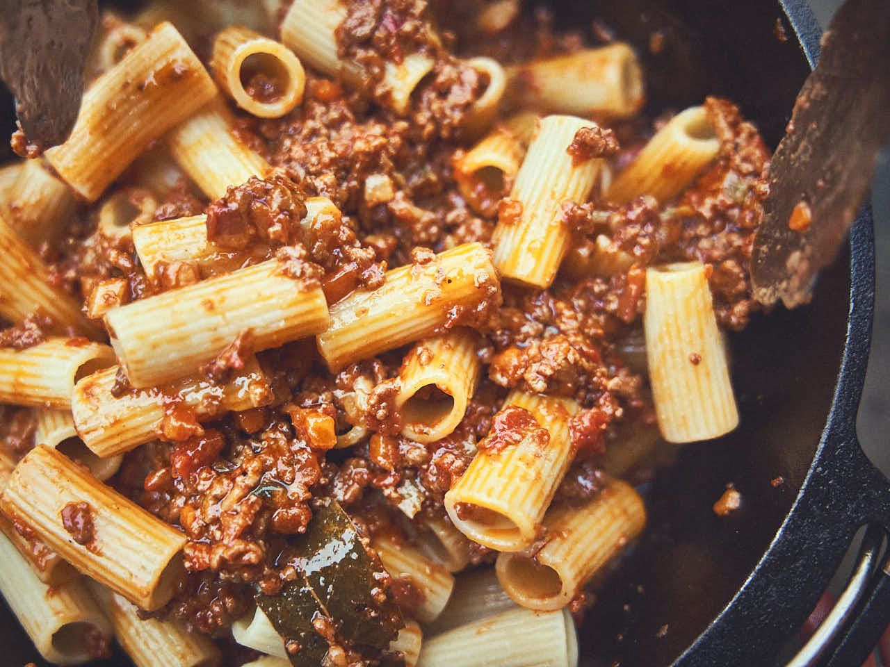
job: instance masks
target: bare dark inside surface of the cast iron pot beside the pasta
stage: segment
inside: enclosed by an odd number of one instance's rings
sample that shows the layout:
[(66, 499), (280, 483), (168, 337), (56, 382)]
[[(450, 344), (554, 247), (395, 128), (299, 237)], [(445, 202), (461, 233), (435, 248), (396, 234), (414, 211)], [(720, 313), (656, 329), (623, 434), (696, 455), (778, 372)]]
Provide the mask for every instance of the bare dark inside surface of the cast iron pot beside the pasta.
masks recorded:
[[(787, 24), (788, 41), (775, 34), (783, 18), (775, 0), (555, 5), (563, 24), (578, 28), (602, 19), (646, 54), (651, 110), (725, 95), (740, 102), (773, 146), (781, 138), (808, 68)], [(658, 56), (648, 49), (654, 31), (665, 37)], [(647, 486), (649, 533), (602, 588), (580, 629), (583, 664), (671, 663), (764, 553), (809, 468), (828, 414), (844, 345), (848, 274), (847, 262), (838, 261), (821, 277), (812, 305), (757, 316), (747, 331), (732, 336), (740, 429), (716, 442), (685, 446), (676, 464)], [(773, 483), (780, 477), (781, 484)], [(742, 494), (743, 509), (717, 518), (711, 506), (730, 482)], [(4, 606), (0, 647), (0, 663), (42, 664)], [(126, 662), (116, 657), (105, 664)]]

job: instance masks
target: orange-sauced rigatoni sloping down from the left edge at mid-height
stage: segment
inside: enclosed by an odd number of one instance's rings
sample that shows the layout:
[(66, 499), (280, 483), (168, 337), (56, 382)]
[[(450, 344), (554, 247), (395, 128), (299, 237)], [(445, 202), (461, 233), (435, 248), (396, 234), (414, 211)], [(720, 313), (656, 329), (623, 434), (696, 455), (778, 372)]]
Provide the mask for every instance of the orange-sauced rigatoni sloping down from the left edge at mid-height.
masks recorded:
[(0, 316), (21, 322), (35, 311), (53, 318), (55, 325), (80, 333), (92, 333), (80, 306), (68, 294), (50, 284), (49, 269), (0, 216)]

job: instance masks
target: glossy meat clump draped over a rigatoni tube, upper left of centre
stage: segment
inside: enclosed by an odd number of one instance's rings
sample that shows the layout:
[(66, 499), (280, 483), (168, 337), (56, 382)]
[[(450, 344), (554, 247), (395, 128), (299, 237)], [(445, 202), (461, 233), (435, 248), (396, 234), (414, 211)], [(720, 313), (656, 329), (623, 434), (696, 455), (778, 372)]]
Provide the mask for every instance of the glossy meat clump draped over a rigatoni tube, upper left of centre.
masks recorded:
[(305, 215), (303, 193), (291, 181), (252, 176), (242, 185), (230, 186), (207, 207), (207, 240), (231, 250), (244, 250), (255, 239), (293, 245), (302, 238), (300, 221)]

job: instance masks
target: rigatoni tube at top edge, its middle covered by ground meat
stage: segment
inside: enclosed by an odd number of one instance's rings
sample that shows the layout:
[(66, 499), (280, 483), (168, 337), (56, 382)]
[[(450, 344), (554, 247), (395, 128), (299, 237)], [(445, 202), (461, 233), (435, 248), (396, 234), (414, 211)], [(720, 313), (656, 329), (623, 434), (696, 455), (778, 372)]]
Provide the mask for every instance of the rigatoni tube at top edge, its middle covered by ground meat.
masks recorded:
[[(346, 18), (346, 7), (338, 0), (295, 0), (281, 22), (281, 41), (310, 67), (328, 76), (340, 76), (352, 86), (360, 84), (362, 68), (337, 57), (335, 31)], [(386, 103), (397, 114), (408, 111), (411, 92), (433, 69), (433, 59), (424, 53), (405, 54), (400, 63), (387, 60), (384, 84), (390, 91)]]

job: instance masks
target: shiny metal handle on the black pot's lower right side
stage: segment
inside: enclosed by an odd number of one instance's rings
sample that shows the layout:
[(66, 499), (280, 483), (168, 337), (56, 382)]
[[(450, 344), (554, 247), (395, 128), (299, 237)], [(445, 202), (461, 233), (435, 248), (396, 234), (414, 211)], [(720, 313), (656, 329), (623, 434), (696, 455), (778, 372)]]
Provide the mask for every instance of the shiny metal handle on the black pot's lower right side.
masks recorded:
[(890, 621), (890, 559), (881, 562), (887, 542), (881, 526), (868, 527), (844, 591), (788, 667), (849, 667), (865, 661)]

